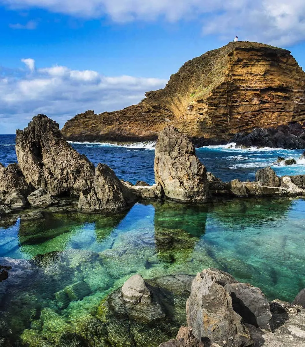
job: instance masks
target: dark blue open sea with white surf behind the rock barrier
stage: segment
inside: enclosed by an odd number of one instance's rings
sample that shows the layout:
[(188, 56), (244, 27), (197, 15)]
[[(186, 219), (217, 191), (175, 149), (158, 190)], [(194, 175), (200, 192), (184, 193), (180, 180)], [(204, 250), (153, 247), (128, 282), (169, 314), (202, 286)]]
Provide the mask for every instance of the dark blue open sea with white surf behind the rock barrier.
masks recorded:
[[(0, 162), (7, 166), (17, 161), (15, 135), (0, 135)], [(116, 146), (100, 143), (71, 143), (80, 153), (85, 154), (95, 165), (99, 162), (110, 166), (121, 179), (135, 183), (144, 180), (154, 183), (155, 143), (134, 143), (129, 146)], [(272, 165), (278, 156), (295, 158), (297, 164), (273, 166), (279, 176), (305, 174), (305, 160), (299, 160), (304, 150), (271, 149), (229, 149), (230, 145), (207, 146), (196, 150), (198, 158), (208, 171), (223, 181), (234, 178), (254, 180), (255, 171)]]

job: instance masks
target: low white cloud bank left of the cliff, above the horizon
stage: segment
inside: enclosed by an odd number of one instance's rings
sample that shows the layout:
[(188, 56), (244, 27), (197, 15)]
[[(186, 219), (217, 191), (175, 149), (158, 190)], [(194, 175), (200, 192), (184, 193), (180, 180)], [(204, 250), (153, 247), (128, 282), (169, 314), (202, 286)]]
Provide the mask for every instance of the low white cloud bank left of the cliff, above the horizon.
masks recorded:
[(0, 69), (0, 123), (6, 124), (5, 131), (10, 133), (24, 128), (38, 113), (63, 126), (67, 119), (85, 110), (100, 113), (122, 109), (141, 101), (146, 91), (162, 88), (167, 82), (158, 78), (107, 77), (97, 71), (65, 66), (35, 70), (33, 59), (23, 61), (31, 74)]

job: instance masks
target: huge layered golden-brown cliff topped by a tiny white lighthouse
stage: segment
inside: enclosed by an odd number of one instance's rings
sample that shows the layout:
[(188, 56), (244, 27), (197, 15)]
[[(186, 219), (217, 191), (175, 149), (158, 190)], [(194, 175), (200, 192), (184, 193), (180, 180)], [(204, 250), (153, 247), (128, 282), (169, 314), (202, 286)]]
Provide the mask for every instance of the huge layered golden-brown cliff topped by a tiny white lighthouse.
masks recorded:
[(228, 141), (256, 127), (305, 121), (305, 73), (288, 50), (230, 42), (186, 62), (166, 87), (138, 105), (99, 115), (86, 111), (62, 134), (78, 141), (156, 139), (167, 125), (192, 138)]

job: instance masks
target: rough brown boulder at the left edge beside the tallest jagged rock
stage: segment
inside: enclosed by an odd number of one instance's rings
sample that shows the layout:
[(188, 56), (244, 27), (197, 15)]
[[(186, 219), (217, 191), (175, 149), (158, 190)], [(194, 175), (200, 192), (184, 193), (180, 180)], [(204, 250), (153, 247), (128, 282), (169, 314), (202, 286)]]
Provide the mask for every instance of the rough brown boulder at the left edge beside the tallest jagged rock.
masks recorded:
[(27, 196), (32, 190), (18, 164), (9, 164), (7, 167), (4, 167), (0, 163), (0, 200), (5, 201), (12, 193), (20, 193), (23, 196)]

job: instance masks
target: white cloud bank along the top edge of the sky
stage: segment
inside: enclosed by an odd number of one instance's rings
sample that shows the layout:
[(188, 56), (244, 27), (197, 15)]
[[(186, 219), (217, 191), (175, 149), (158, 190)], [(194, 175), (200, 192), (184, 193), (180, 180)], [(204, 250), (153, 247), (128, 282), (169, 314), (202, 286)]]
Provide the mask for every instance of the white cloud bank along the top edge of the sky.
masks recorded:
[[(200, 20), (203, 33), (290, 45), (305, 39), (304, 0), (0, 0), (11, 9), (43, 8), (114, 21)], [(203, 16), (204, 15), (204, 16)]]

